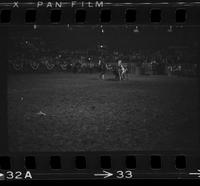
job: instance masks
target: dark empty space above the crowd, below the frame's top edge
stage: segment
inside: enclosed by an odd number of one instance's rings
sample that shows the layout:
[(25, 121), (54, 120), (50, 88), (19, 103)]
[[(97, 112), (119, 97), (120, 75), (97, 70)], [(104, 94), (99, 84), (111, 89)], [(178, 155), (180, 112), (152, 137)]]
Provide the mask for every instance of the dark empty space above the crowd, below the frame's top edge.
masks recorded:
[[(80, 30), (79, 27), (70, 26), (38, 26), (36, 30), (33, 27), (13, 29), (15, 43), (20, 42), (22, 37), (39, 37), (47, 43), (49, 48), (59, 49), (95, 49), (102, 43), (108, 46), (108, 49), (162, 49), (170, 46), (199, 48), (199, 31), (197, 27), (173, 27), (173, 32), (167, 32), (169, 27), (157, 26), (139, 26), (139, 33), (134, 33), (134, 26), (128, 28), (119, 26), (104, 26), (104, 34), (100, 27), (85, 26)], [(12, 42), (12, 40), (10, 41)], [(14, 44), (14, 43), (13, 43)], [(10, 44), (10, 50), (16, 50), (15, 45)]]

